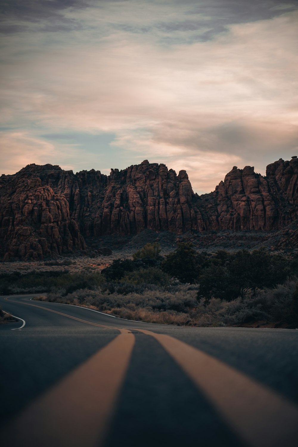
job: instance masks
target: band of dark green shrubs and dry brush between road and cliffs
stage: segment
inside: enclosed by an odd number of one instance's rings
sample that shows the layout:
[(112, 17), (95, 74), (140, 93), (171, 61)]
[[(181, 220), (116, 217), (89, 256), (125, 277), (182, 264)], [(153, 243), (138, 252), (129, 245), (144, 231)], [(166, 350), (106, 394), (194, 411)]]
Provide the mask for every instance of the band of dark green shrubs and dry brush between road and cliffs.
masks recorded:
[(121, 318), (173, 325), (298, 325), (298, 259), (265, 249), (198, 253), (189, 242), (161, 256), (146, 244), (102, 270), (14, 272), (4, 293), (76, 304)]

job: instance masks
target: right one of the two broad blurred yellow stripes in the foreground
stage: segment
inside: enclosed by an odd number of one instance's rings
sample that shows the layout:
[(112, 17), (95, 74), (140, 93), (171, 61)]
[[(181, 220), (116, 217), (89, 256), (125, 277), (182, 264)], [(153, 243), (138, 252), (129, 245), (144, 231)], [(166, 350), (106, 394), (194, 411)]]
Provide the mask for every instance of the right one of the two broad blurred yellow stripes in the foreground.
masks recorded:
[(228, 425), (253, 447), (296, 447), (298, 408), (214, 357), (168, 335), (154, 337), (206, 395)]

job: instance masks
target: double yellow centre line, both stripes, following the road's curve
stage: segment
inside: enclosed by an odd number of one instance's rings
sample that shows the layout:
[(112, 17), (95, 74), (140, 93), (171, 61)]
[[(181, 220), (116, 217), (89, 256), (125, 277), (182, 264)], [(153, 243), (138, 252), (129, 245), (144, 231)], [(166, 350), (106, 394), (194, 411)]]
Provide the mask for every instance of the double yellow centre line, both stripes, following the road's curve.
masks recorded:
[[(130, 363), (134, 334), (127, 329), (99, 325), (36, 304), (23, 304), (86, 324), (117, 329), (120, 335), (30, 405), (6, 431), (6, 435), (10, 431), (7, 445), (24, 441), (32, 447), (102, 445)], [(145, 329), (137, 331), (154, 337), (164, 347), (245, 444), (251, 447), (297, 446), (297, 406), (187, 343)]]

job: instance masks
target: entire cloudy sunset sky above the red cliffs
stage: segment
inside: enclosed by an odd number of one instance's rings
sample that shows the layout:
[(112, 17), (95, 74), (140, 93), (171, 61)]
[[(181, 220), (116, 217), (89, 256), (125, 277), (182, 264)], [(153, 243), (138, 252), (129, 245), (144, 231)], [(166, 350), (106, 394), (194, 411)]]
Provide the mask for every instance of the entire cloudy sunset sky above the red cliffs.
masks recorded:
[(298, 0), (7, 0), (0, 174), (148, 159), (210, 192), (298, 155)]

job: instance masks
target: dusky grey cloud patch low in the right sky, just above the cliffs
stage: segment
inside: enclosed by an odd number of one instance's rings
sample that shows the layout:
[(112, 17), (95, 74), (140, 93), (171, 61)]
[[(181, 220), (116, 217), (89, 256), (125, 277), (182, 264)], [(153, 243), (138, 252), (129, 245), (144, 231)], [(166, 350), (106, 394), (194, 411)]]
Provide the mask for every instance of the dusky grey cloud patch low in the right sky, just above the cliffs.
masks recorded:
[(270, 157), (291, 157), (298, 148), (297, 128), (285, 123), (231, 121), (209, 128), (195, 122), (160, 123), (153, 141), (179, 145), (189, 154), (218, 153), (238, 156), (246, 164), (268, 162)]

